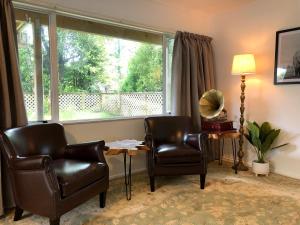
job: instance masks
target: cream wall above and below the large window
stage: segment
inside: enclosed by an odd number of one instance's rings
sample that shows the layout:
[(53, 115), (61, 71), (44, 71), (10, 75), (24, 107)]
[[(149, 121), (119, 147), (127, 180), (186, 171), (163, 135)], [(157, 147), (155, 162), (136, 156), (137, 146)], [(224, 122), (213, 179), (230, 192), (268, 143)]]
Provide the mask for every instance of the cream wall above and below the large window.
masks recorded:
[[(154, 1), (145, 0), (20, 0), (48, 8), (55, 8), (71, 13), (109, 19), (128, 25), (152, 28), (163, 32), (177, 30), (208, 33), (209, 17), (194, 9), (187, 10), (170, 7)], [(65, 124), (67, 139), (70, 143), (79, 143), (104, 139), (114, 141), (122, 139), (144, 138), (144, 120), (121, 120), (82, 124)], [(123, 157), (106, 157), (110, 167), (111, 177), (123, 175)], [(146, 168), (145, 153), (133, 158), (133, 170)]]

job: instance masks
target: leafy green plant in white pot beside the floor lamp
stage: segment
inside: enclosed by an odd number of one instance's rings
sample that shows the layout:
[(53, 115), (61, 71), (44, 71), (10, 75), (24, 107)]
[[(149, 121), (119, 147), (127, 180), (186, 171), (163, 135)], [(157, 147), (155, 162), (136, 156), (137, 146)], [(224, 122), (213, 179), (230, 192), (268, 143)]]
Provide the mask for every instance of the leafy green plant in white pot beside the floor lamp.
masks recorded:
[(250, 144), (254, 147), (257, 160), (252, 162), (252, 171), (255, 175), (269, 175), (270, 165), (265, 160), (266, 153), (270, 151), (274, 140), (278, 137), (280, 129), (272, 129), (270, 123), (264, 122), (261, 126), (256, 122), (247, 121), (247, 131), (245, 137)]

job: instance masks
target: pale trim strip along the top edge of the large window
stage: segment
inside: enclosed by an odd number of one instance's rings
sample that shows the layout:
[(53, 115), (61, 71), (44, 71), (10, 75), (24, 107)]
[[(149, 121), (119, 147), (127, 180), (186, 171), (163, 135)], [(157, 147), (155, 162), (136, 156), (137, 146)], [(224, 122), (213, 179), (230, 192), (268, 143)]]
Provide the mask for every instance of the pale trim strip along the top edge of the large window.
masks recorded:
[(85, 19), (85, 20), (89, 20), (92, 22), (104, 23), (107, 25), (129, 28), (129, 29), (133, 29), (133, 30), (144, 31), (144, 32), (149, 32), (149, 33), (154, 33), (154, 34), (166, 34), (166, 35), (170, 35), (170, 36), (175, 36), (174, 32), (156, 30), (154, 28), (145, 27), (143, 25), (131, 25), (131, 24), (123, 22), (121, 20), (114, 20), (111, 18), (110, 19), (99, 18), (94, 15), (87, 16), (86, 13), (77, 11), (74, 9), (66, 9), (63, 7), (50, 6), (50, 5), (41, 6), (41, 5), (36, 5), (33, 3), (25, 3), (25, 2), (21, 2), (21, 1), (12, 1), (12, 2), (15, 7), (20, 8), (20, 9), (35, 10), (37, 12), (44, 12), (44, 13), (53, 13), (54, 12), (54, 13), (57, 13), (62, 16), (69, 16), (69, 17), (78, 18), (78, 19)]

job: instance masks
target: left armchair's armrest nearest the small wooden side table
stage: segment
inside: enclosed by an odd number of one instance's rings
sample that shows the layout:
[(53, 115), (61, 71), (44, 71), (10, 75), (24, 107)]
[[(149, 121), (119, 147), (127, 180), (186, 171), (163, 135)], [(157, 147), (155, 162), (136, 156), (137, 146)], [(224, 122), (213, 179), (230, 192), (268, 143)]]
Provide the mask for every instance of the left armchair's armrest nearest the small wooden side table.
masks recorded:
[(104, 162), (104, 141), (87, 142), (81, 144), (67, 145), (65, 156), (70, 159)]

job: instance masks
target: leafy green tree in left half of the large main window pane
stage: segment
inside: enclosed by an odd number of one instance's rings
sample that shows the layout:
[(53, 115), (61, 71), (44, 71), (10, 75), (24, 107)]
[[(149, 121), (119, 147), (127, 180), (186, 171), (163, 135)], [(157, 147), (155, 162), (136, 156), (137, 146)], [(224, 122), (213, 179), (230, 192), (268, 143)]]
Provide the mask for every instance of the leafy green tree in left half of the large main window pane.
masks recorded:
[(104, 40), (89, 33), (57, 30), (60, 90), (97, 92), (106, 82)]

